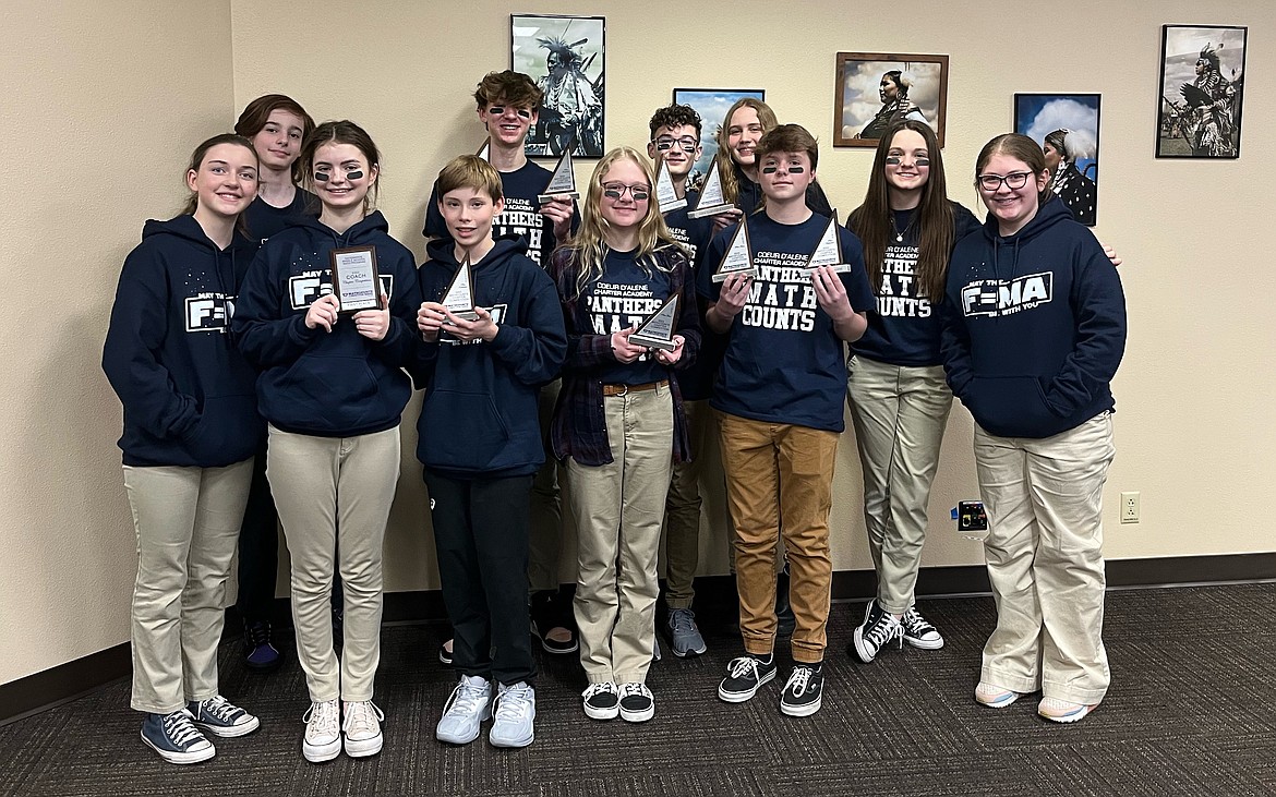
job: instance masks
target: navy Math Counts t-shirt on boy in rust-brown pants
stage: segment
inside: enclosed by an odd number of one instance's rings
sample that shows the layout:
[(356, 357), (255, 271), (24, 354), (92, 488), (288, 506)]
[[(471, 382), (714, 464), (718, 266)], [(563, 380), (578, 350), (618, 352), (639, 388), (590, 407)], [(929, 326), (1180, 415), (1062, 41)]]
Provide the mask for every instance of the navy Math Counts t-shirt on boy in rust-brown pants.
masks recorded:
[[(731, 324), (726, 355), (709, 406), (743, 418), (841, 432), (846, 393), (846, 351), (833, 320), (819, 306), (810, 277), (800, 270), (815, 250), (828, 217), (813, 213), (800, 224), (781, 224), (755, 213), (749, 226), (758, 277), (749, 300)], [(873, 307), (860, 240), (838, 227), (842, 258), (852, 267), (840, 274), (851, 307)], [(697, 289), (716, 302), (722, 284), (712, 282), (735, 226), (709, 244)]]

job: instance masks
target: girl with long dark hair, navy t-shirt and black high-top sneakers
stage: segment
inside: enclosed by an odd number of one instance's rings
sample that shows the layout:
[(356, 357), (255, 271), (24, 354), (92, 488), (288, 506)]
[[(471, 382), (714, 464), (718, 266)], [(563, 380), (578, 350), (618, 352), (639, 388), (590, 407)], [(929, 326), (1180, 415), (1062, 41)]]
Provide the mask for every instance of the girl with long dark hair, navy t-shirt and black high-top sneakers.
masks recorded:
[(877, 293), (877, 312), (869, 314), (868, 330), (851, 344), (846, 365), (864, 473), (864, 524), (877, 570), (877, 597), (847, 653), (872, 662), (893, 640), (924, 650), (944, 645), (917, 611), (914, 588), (952, 407), (939, 353), (948, 258), (979, 222), (948, 199), (943, 153), (930, 125), (903, 120), (882, 134), (864, 204), (846, 226), (864, 244)]

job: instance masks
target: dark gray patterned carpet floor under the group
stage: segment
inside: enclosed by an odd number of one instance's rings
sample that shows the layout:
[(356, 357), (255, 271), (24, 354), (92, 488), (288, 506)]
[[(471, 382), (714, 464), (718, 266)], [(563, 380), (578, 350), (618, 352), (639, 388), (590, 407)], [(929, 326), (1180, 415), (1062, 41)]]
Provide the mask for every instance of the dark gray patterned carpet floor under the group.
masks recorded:
[(385, 750), (313, 765), (300, 754), (305, 682), (293, 652), (271, 675), (222, 649), (222, 691), (262, 729), (217, 740), (217, 757), (162, 763), (138, 740), (128, 682), (0, 728), (0, 794), (457, 794), (600, 797), (758, 794), (1276, 794), (1276, 584), (1113, 592), (1104, 638), (1106, 701), (1074, 726), (1036, 717), (1035, 699), (975, 704), (990, 598), (919, 608), (948, 644), (888, 649), (873, 664), (846, 644), (863, 603), (836, 604), (824, 708), (778, 710), (781, 677), (743, 705), (716, 694), (739, 639), (706, 618), (709, 652), (665, 657), (648, 685), (656, 718), (587, 719), (574, 657), (540, 654), (536, 742), (453, 747), (434, 724), (453, 676), (435, 658), (445, 629), (385, 627), (376, 700)]

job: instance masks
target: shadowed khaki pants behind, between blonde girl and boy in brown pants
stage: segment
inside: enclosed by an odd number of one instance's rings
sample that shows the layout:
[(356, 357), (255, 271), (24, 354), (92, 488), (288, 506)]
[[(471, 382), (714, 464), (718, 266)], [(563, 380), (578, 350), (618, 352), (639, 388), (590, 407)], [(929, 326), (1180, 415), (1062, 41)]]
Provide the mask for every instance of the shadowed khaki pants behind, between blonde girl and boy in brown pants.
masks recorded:
[(665, 499), (665, 602), (669, 608), (692, 608), (692, 581), (701, 566), (701, 464), (704, 449), (715, 439), (715, 420), (708, 402), (683, 402), (692, 462), (674, 463)]

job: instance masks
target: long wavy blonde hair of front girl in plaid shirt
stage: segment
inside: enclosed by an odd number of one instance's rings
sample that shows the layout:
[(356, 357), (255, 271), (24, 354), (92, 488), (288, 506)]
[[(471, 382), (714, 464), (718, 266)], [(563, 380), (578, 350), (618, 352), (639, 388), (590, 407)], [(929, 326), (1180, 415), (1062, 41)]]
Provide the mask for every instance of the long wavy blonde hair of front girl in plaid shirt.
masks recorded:
[[(611, 170), (612, 163), (627, 158), (638, 165), (647, 185), (652, 189), (651, 199), (647, 201), (647, 216), (638, 223), (638, 251), (634, 255), (634, 261), (648, 274), (653, 268), (666, 272), (669, 268), (662, 268), (653, 255), (656, 250), (666, 246), (678, 247), (674, 236), (670, 235), (669, 227), (665, 224), (665, 217), (660, 213), (660, 203), (656, 200), (656, 175), (651, 163), (637, 149), (616, 147), (593, 167), (590, 189), (581, 212), (581, 230), (568, 244), (563, 245), (581, 264), (581, 273), (575, 279), (577, 298), (584, 293), (586, 286), (602, 274), (602, 263), (610, 251), (606, 237), (610, 224), (602, 217), (602, 179)], [(678, 249), (681, 250), (681, 247)]]

